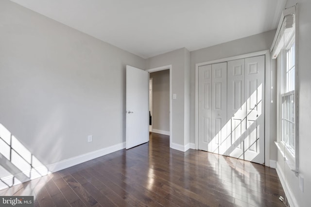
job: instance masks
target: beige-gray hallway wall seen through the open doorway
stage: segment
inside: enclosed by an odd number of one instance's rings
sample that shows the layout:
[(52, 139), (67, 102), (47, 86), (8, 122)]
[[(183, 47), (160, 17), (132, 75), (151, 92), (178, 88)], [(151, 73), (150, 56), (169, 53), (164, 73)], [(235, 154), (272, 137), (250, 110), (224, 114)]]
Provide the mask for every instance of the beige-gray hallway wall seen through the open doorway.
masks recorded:
[(152, 78), (152, 127), (170, 131), (170, 70), (150, 73)]

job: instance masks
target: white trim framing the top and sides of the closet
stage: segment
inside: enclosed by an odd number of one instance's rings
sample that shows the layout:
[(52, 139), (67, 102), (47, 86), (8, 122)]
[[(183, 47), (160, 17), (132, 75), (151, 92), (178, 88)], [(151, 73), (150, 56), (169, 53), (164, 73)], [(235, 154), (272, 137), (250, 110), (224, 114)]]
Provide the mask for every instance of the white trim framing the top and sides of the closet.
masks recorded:
[(199, 122), (199, 66), (207, 65), (207, 64), (216, 64), (222, 62), (228, 62), (238, 59), (250, 58), (255, 56), (265, 55), (265, 165), (270, 166), (270, 101), (271, 101), (271, 77), (270, 77), (270, 50), (262, 50), (258, 52), (252, 52), (248, 54), (242, 54), (227, 58), (222, 58), (218, 60), (207, 61), (203, 63), (195, 64), (195, 149), (198, 149), (198, 122)]

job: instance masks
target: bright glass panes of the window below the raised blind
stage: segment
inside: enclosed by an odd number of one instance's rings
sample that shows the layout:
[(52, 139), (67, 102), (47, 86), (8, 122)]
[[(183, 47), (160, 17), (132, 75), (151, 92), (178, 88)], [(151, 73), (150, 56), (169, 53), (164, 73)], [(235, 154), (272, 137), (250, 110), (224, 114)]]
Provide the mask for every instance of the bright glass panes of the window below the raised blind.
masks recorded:
[(279, 55), (280, 72), (280, 133), (281, 142), (294, 156), (295, 152), (295, 43), (291, 38)]

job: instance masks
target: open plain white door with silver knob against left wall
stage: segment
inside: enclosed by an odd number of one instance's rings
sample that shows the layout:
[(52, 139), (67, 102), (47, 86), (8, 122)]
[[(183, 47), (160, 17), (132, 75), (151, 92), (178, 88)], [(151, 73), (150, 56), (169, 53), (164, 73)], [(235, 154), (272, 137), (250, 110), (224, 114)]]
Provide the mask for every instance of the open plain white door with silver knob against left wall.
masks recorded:
[(126, 149), (149, 141), (148, 72), (126, 65)]

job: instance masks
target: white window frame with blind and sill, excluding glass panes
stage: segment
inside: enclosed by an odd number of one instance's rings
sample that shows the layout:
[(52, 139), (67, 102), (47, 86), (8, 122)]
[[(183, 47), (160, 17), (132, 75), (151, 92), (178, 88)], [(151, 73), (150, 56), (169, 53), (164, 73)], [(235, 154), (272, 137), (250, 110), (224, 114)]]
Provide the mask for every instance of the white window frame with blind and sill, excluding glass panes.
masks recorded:
[[(272, 59), (277, 58), (277, 142), (276, 146), (279, 152), (282, 154), (284, 160), (289, 165), (290, 169), (295, 173), (296, 176), (299, 175), (299, 84), (298, 84), (298, 30), (297, 30), (297, 18), (296, 6), (292, 6), (283, 10), (281, 18), (276, 30), (276, 36), (273, 40), (272, 46), (270, 48)], [(288, 91), (288, 94), (281, 94), (281, 76), (280, 68), (286, 67), (286, 60), (284, 60), (286, 55), (286, 49), (291, 46), (294, 42), (294, 91)], [(283, 77), (284, 78), (284, 77)], [(282, 142), (282, 96), (294, 94), (294, 147), (289, 147), (286, 142)], [(291, 105), (291, 104), (289, 104)], [(293, 111), (293, 109), (292, 109)], [(290, 113), (288, 113), (290, 114)], [(289, 119), (293, 119), (293, 116), (288, 116)], [(288, 118), (287, 117), (287, 118)]]

